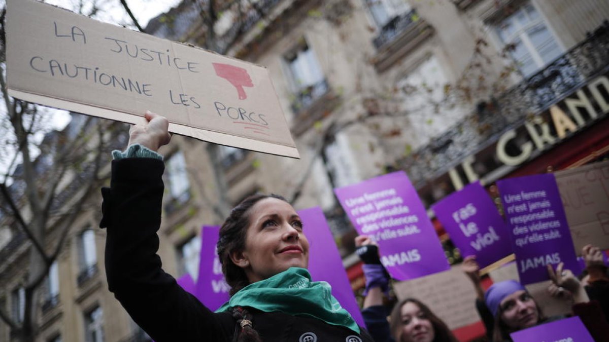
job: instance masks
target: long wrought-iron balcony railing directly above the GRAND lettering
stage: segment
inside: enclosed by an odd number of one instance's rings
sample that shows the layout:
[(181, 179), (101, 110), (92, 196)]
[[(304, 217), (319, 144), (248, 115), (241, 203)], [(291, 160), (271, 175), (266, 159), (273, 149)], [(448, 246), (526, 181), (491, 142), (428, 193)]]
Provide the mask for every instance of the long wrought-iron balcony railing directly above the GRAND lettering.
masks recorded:
[(609, 72), (609, 24), (558, 57), (537, 74), (505, 91), (412, 155), (398, 161), (420, 188), (445, 175), (463, 158), (495, 144), (501, 134), (521, 127), (599, 75)]

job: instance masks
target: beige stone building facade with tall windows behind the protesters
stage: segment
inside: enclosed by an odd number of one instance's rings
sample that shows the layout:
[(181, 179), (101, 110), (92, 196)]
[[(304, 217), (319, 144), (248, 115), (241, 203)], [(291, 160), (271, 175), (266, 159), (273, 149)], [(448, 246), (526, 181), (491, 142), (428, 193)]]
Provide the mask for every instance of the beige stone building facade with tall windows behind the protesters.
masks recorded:
[[(333, 187), (405, 170), (429, 206), (472, 181), (492, 195), (499, 178), (607, 158), (605, 1), (231, 3), (210, 23), (199, 2), (184, 1), (146, 30), (269, 68), (301, 159), (174, 136), (161, 149), (158, 254), (175, 277), (196, 279), (201, 226), (221, 223), (255, 192), (284, 195), (296, 209), (320, 206), (356, 289), (355, 232)], [(107, 290), (99, 215), (95, 206), (83, 212), (51, 268), (42, 342), (146, 340)], [(15, 317), (30, 248), (19, 239), (0, 250), (0, 302)], [(10, 340), (0, 323), (0, 341)]]

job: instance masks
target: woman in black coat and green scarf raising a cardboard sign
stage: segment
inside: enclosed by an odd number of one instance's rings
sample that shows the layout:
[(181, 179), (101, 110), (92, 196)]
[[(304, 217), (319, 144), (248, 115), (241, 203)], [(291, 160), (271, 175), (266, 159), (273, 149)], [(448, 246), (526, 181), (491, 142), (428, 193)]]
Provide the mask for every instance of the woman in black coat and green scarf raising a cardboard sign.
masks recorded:
[(236, 206), (220, 228), (217, 253), (231, 299), (216, 313), (161, 269), (157, 256), (167, 119), (146, 113), (125, 152), (113, 152), (102, 189), (108, 228), (108, 287), (155, 341), (365, 341), (370, 335), (306, 270), (309, 243), (294, 208), (275, 195)]

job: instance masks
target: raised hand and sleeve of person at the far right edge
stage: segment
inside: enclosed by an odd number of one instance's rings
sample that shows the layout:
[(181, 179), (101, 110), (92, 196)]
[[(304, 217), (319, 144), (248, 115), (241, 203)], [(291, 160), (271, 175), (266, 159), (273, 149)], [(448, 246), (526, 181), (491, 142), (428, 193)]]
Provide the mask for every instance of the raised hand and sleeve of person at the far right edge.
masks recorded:
[(586, 276), (582, 281), (586, 293), (591, 301), (599, 302), (605, 318), (609, 319), (609, 276), (603, 251), (596, 246), (586, 245), (582, 248), (582, 256), (586, 265)]

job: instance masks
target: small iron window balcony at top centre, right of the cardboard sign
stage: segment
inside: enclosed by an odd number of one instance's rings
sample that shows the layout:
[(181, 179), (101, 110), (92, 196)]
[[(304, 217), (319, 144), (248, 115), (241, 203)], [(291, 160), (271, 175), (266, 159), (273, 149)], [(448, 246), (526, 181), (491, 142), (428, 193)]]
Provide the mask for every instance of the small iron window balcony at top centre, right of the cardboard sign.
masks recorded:
[(373, 58), (376, 69), (379, 72), (385, 71), (433, 33), (433, 27), (415, 10), (395, 16), (372, 41), (377, 49)]

